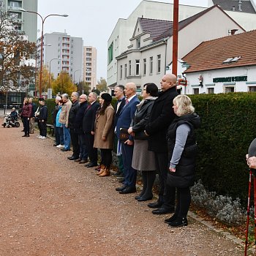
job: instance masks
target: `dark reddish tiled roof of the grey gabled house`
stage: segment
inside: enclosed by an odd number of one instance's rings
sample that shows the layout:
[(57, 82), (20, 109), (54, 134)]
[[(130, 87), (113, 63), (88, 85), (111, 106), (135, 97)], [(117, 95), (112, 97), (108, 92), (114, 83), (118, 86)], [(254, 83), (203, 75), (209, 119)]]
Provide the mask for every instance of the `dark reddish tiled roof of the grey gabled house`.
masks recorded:
[(143, 32), (150, 34), (153, 40), (173, 26), (173, 21), (149, 18), (138, 18), (138, 23), (140, 23)]

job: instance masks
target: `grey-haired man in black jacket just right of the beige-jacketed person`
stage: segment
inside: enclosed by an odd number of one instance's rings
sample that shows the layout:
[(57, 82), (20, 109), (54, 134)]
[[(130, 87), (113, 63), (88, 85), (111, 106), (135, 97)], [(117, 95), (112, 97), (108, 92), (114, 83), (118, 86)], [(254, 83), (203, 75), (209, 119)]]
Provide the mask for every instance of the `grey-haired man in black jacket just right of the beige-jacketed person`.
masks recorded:
[(69, 110), (69, 132), (70, 132), (70, 139), (72, 143), (72, 148), (73, 148), (73, 154), (71, 157), (67, 157), (69, 160), (76, 160), (79, 158), (79, 145), (78, 145), (78, 134), (75, 133), (75, 116), (78, 112), (79, 104), (78, 104), (78, 98), (79, 94), (78, 92), (72, 92), (71, 94), (71, 101), (72, 101), (72, 106)]

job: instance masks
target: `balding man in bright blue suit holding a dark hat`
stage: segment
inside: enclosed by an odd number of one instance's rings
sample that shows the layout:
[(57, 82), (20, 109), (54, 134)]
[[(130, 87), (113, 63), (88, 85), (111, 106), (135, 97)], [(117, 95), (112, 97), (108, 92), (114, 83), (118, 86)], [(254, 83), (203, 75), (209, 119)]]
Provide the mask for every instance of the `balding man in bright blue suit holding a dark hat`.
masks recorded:
[[(120, 129), (129, 128), (132, 118), (135, 114), (136, 105), (140, 103), (136, 95), (135, 83), (127, 83), (124, 86), (124, 92), (127, 97), (126, 104), (120, 112), (116, 123), (116, 136), (120, 138)], [(129, 138), (121, 142), (121, 153), (124, 162), (124, 186), (116, 188), (120, 194), (128, 194), (136, 192), (136, 178), (137, 170), (132, 168), (132, 152), (133, 152), (133, 138), (129, 135)]]

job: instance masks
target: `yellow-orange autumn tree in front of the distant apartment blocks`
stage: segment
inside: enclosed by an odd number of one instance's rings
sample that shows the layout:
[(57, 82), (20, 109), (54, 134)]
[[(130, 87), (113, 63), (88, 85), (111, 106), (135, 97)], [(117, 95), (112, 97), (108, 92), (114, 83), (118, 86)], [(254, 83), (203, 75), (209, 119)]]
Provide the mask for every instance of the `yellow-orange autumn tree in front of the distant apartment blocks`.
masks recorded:
[(69, 94), (71, 95), (73, 91), (77, 91), (77, 86), (72, 83), (71, 78), (67, 72), (61, 71), (58, 78), (51, 83), (53, 89), (53, 94)]

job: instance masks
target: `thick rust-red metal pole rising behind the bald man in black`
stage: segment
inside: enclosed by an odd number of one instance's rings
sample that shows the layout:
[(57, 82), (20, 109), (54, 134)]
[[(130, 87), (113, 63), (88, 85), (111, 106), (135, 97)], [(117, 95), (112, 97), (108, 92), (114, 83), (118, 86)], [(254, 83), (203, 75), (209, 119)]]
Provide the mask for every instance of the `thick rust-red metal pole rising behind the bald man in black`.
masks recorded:
[(178, 64), (178, 0), (173, 5), (173, 74), (177, 76)]

